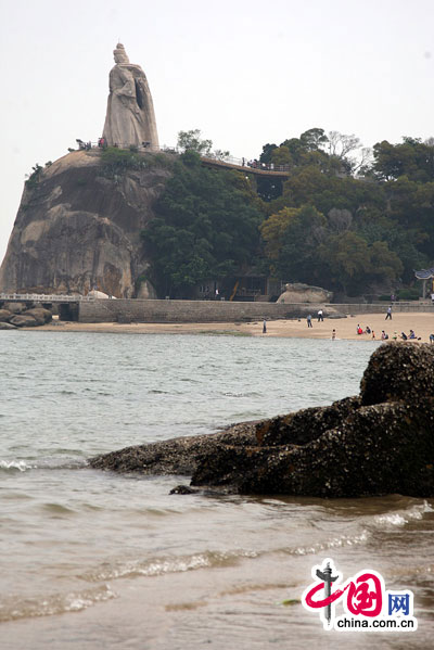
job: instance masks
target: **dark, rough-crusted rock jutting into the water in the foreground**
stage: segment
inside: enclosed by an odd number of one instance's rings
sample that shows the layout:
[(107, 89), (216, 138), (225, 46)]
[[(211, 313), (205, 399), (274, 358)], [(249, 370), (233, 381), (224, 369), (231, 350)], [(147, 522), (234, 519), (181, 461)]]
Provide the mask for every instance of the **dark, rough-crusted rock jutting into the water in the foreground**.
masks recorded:
[(434, 496), (434, 346), (379, 347), (360, 396), (218, 434), (129, 447), (90, 463), (192, 474), (192, 485), (242, 494)]

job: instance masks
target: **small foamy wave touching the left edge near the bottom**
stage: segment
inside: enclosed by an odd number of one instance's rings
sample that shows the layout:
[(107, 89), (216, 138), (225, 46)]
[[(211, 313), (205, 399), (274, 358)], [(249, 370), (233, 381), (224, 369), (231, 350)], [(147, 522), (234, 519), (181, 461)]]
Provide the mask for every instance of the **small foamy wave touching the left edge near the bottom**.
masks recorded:
[(49, 596), (35, 596), (31, 598), (10, 597), (0, 600), (0, 623), (17, 619), (33, 619), (35, 616), (51, 616), (65, 612), (79, 612), (98, 602), (117, 598), (110, 585), (103, 585), (82, 591), (68, 594), (51, 594)]

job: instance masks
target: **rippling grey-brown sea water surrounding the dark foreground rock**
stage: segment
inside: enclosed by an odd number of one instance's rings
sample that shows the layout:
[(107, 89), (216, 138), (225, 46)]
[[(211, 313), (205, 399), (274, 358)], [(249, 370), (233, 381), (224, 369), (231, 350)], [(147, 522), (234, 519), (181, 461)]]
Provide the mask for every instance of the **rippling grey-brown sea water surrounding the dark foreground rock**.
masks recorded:
[[(432, 648), (433, 499), (169, 495), (188, 480), (86, 462), (356, 394), (375, 342), (0, 334), (2, 650)], [(299, 599), (328, 557), (412, 589), (418, 630), (326, 633)]]

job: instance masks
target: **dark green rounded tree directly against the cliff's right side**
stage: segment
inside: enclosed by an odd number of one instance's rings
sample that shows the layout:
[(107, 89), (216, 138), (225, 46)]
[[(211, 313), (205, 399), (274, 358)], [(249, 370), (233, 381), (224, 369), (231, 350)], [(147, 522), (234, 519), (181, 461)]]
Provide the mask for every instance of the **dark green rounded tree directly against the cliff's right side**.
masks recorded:
[(188, 297), (199, 283), (240, 272), (258, 253), (260, 202), (245, 176), (207, 169), (193, 151), (174, 176), (142, 231), (159, 294)]

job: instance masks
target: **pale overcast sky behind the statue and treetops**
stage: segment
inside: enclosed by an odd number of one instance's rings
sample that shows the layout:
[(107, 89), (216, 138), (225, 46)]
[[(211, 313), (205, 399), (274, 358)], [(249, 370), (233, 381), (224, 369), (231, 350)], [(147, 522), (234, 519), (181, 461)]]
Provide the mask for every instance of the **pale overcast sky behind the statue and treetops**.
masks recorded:
[(434, 136), (433, 0), (0, 0), (0, 262), (25, 175), (102, 135), (113, 49), (144, 69), (159, 143), (258, 157), (319, 127)]

